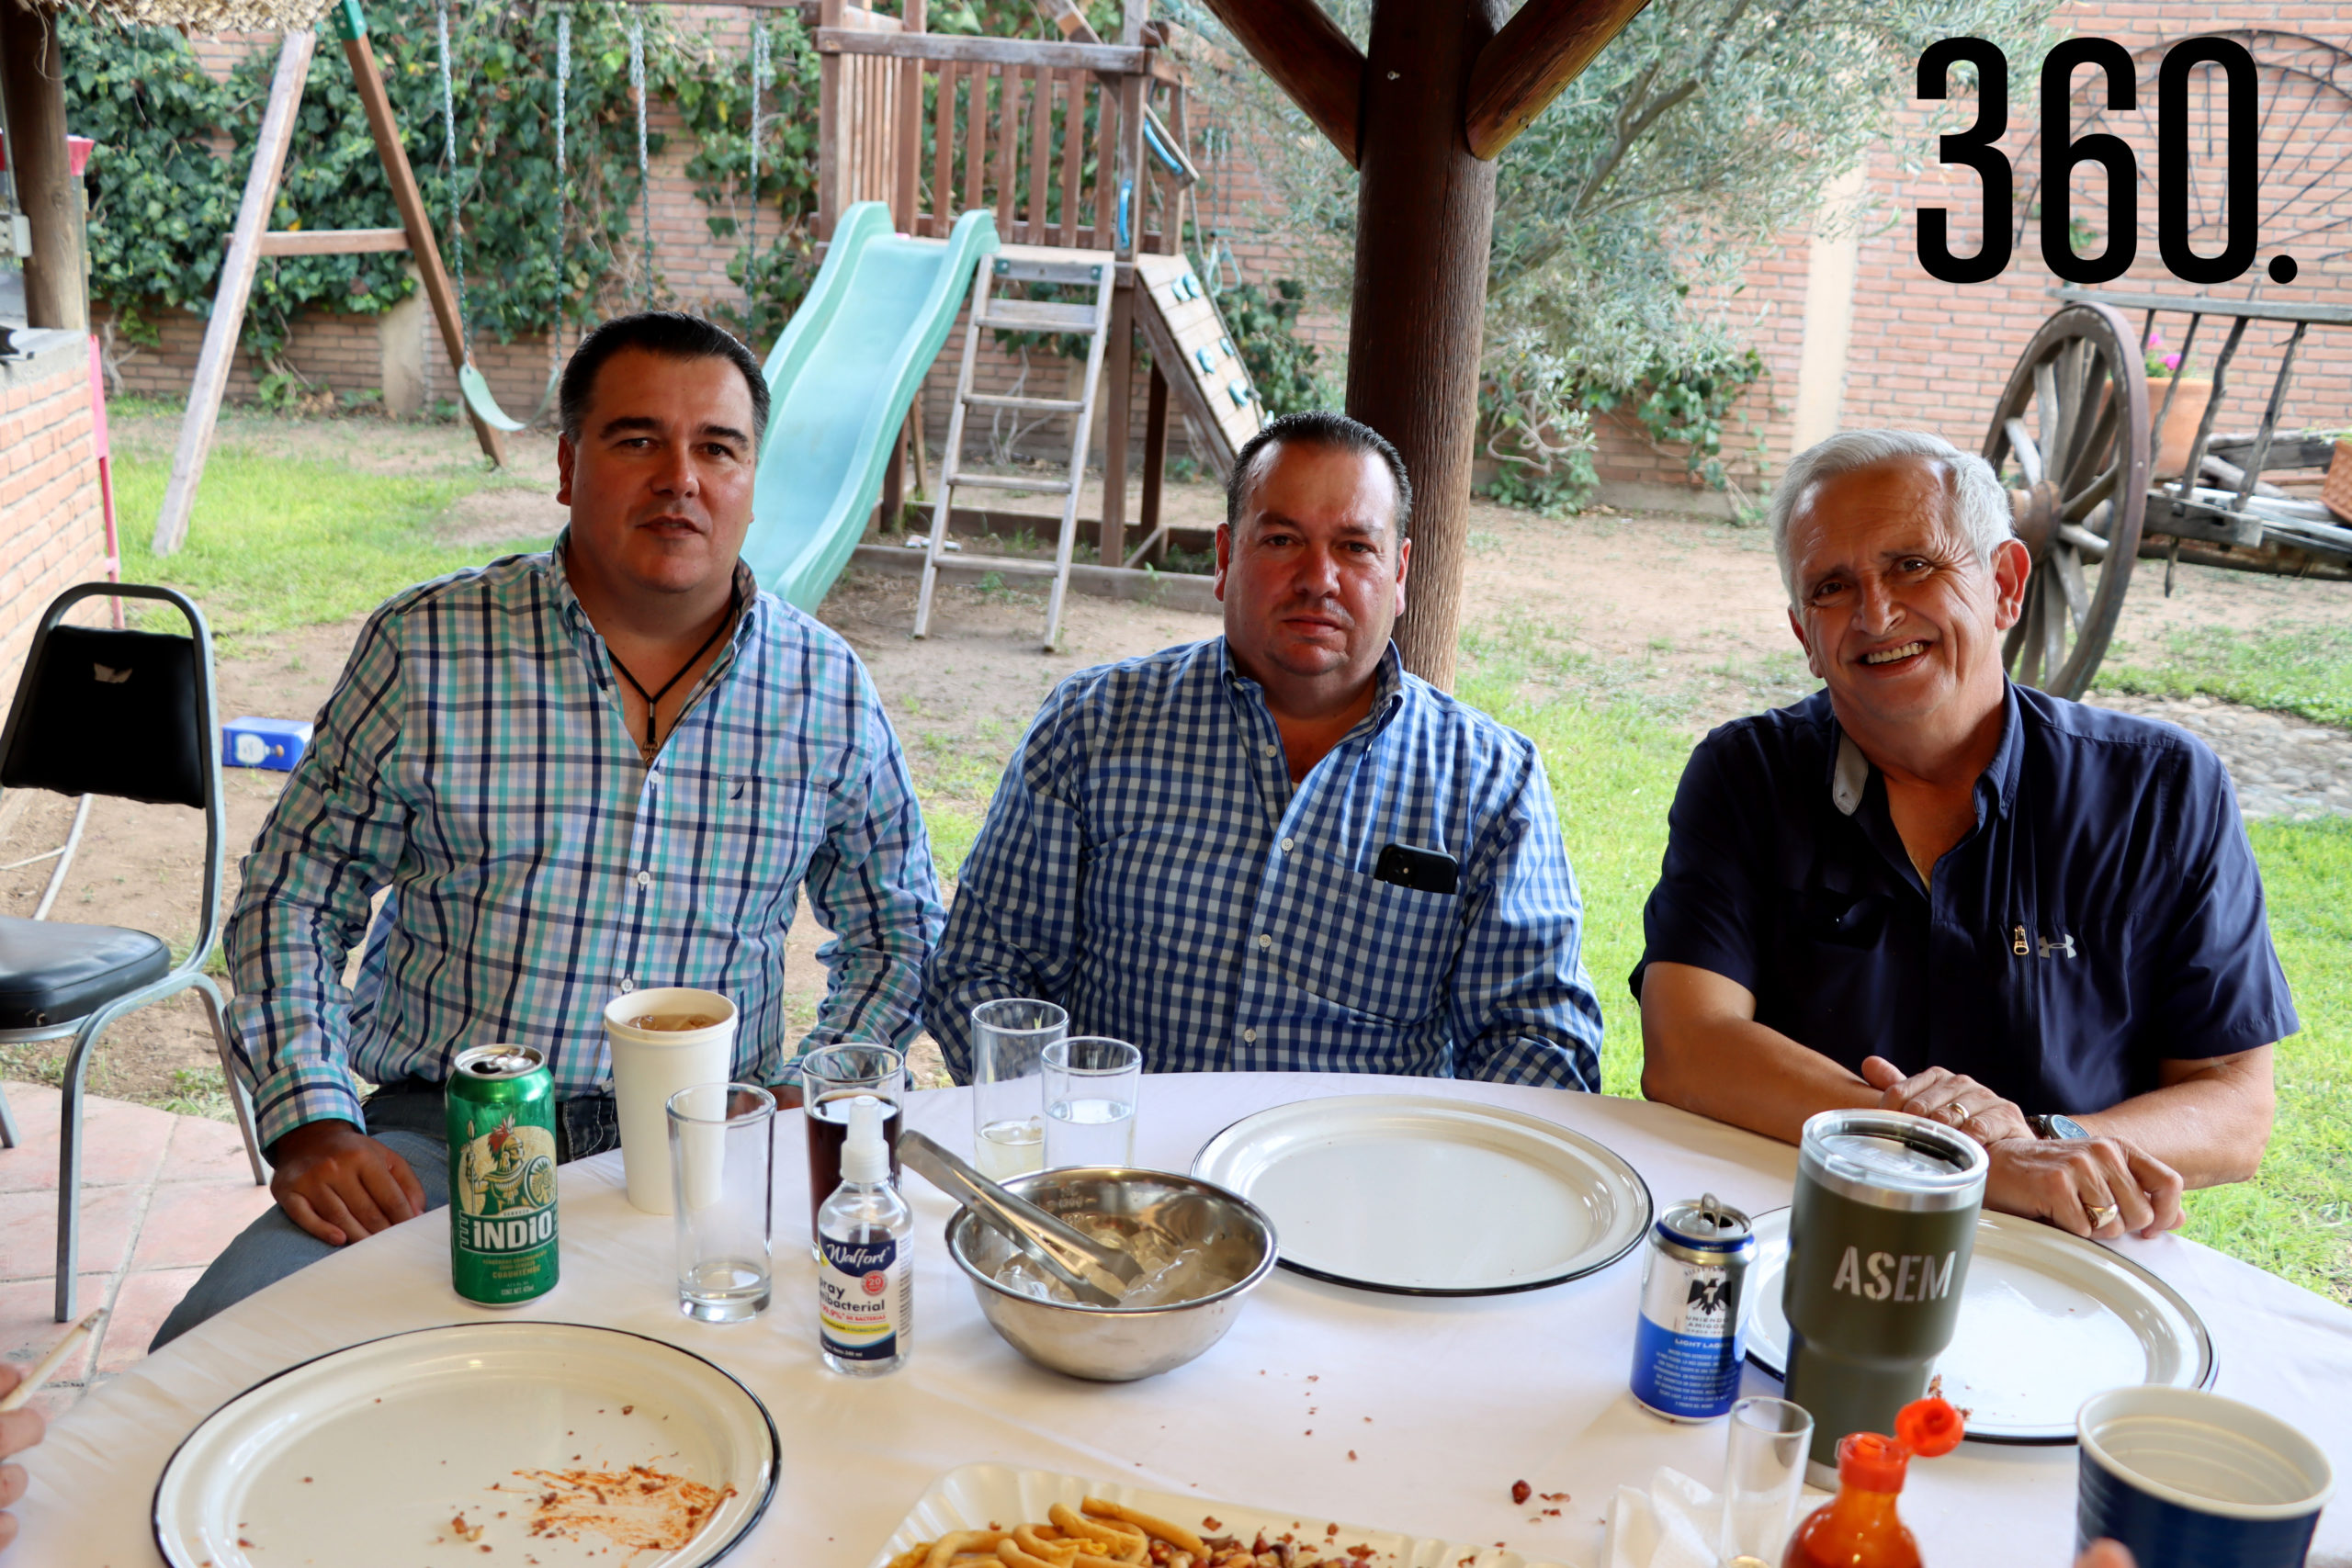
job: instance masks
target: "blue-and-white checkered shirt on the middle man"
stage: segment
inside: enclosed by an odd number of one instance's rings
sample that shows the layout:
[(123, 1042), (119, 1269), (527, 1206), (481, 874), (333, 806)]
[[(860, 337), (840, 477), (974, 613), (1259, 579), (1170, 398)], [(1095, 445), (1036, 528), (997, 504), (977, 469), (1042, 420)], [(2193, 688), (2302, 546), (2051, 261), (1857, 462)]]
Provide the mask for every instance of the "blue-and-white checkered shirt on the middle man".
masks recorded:
[[(1388, 844), (1454, 893), (1374, 879)], [(1296, 788), (1225, 639), (1082, 670), (1030, 726), (924, 971), (957, 1079), (971, 1009), (1044, 997), (1150, 1072), (1411, 1072), (1599, 1088), (1602, 1009), (1536, 745), (1381, 661)]]

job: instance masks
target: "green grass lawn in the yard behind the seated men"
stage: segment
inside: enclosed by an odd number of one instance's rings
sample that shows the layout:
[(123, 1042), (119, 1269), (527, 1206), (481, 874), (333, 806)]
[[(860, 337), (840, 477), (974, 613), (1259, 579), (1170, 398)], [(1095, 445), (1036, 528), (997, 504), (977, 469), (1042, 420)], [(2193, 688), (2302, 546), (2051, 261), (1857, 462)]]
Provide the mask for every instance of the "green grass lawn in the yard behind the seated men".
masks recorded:
[[(365, 425), (353, 433), (365, 440)], [(167, 454), (118, 461), (127, 520), (153, 517), (167, 470)], [(463, 470), (369, 475), (325, 458), (263, 456), (223, 430), (188, 548), (155, 562), (143, 531), (129, 527), (125, 574), (195, 590), (226, 637), (343, 621), (409, 583), (494, 555), (447, 545), (430, 527), (454, 498), (492, 482)], [(1463, 646), (1463, 696), (1543, 748), (1585, 898), (1585, 964), (1609, 1030), (1604, 1086), (1639, 1093), (1642, 1030), (1625, 976), (1642, 952), (1642, 903), (1691, 750), (1670, 724), (1682, 705), (1635, 672), (1573, 656), (1541, 628), (1470, 628)], [(2352, 630), (2176, 635), (2112, 665), (2100, 684), (2211, 691), (2352, 724)], [(915, 741), (929, 748), (917, 762), (946, 875), (969, 853), (1016, 736), (978, 741)], [(2253, 849), (2303, 1032), (2279, 1048), (2279, 1121), (2260, 1178), (2192, 1194), (2190, 1234), (2352, 1302), (2352, 823), (2258, 823)]]

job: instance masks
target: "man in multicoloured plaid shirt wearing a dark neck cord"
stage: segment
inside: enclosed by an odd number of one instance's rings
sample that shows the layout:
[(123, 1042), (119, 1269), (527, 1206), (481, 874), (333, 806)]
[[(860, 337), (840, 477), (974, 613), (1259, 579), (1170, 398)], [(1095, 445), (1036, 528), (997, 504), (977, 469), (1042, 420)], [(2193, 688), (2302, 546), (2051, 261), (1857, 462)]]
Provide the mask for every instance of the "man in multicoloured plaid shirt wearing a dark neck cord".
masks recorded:
[[(941, 907), (906, 757), (849, 646), (739, 562), (767, 402), (717, 327), (607, 322), (564, 371), (555, 550), (412, 588), (360, 632), (228, 926), (278, 1208), (158, 1345), (445, 1204), (468, 1046), (546, 1051), (560, 1159), (616, 1145), (616, 994), (727, 994), (734, 1077), (788, 1084), (802, 891), (835, 940), (800, 1046), (920, 1030)], [(381, 1086), (365, 1107), (353, 1074)]]

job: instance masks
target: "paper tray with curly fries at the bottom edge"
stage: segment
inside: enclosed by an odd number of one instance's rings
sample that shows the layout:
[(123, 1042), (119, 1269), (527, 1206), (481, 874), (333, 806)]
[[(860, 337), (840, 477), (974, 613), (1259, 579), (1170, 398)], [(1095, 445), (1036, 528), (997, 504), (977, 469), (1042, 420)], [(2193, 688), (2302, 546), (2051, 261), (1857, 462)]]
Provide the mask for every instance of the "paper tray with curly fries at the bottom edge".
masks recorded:
[(1508, 1547), (1362, 1530), (1049, 1469), (950, 1469), (870, 1568), (1559, 1568)]

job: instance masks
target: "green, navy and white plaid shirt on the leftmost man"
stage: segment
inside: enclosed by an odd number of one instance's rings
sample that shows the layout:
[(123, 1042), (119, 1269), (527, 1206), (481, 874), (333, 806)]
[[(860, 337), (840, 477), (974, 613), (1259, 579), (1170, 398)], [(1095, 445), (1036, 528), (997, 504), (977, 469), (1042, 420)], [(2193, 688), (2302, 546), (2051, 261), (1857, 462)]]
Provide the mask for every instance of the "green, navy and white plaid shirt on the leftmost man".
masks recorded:
[(604, 1004), (656, 985), (734, 999), (734, 1074), (783, 1081), (802, 889), (833, 940), (800, 1046), (917, 1032), (941, 907), (898, 738), (840, 637), (739, 581), (746, 609), (652, 764), (562, 541), (367, 621), (228, 924), (263, 1143), (358, 1124), (346, 1063), (442, 1081), (492, 1041), (541, 1046), (560, 1098), (609, 1093)]

